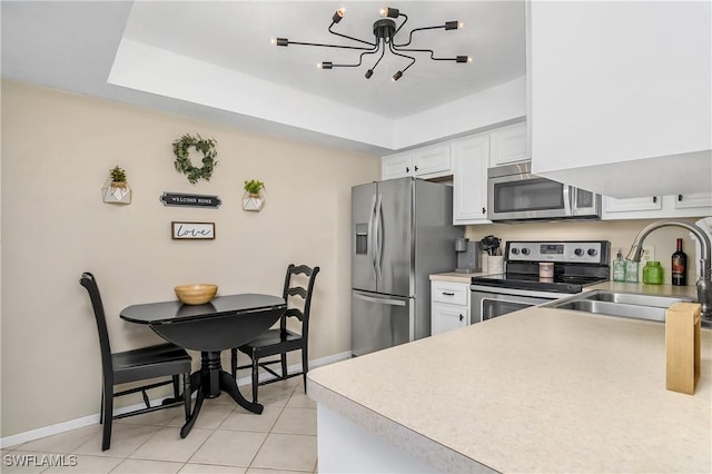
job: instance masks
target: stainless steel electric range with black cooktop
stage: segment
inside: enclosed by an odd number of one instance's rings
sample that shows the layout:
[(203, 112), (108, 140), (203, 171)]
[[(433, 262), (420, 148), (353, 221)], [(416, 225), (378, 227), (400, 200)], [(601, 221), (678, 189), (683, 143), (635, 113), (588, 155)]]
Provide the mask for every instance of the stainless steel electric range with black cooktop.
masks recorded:
[[(472, 278), (472, 322), (482, 322), (610, 279), (606, 240), (510, 241), (506, 273)], [(541, 277), (540, 263), (553, 263), (554, 276)], [(548, 268), (547, 268), (548, 273)]]

